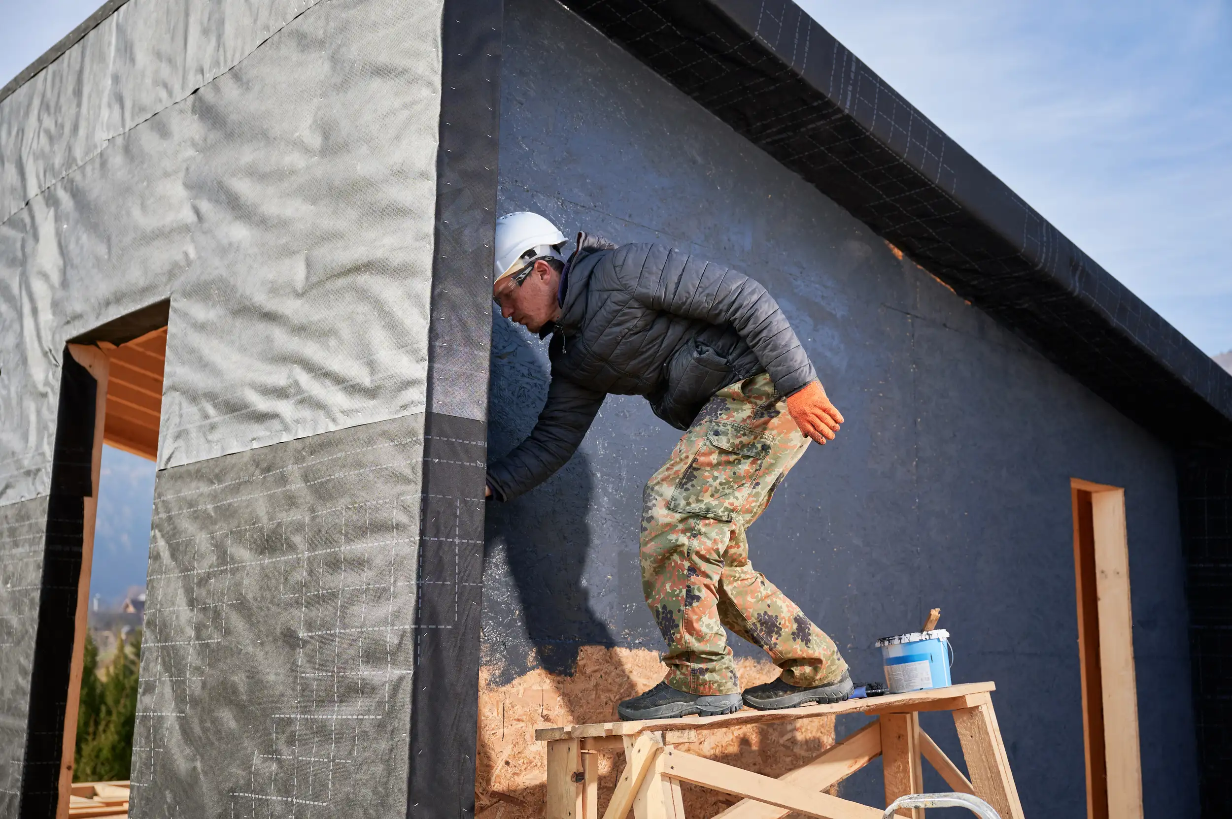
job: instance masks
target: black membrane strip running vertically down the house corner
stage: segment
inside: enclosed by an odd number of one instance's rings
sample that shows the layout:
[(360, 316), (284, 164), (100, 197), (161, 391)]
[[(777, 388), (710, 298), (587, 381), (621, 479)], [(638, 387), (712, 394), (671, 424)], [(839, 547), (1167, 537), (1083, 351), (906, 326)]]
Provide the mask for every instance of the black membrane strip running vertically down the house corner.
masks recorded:
[(442, 15), (423, 584), (407, 789), (413, 817), (474, 813), (478, 695), (469, 692), (479, 677), (483, 602), (501, 5), (446, 0)]

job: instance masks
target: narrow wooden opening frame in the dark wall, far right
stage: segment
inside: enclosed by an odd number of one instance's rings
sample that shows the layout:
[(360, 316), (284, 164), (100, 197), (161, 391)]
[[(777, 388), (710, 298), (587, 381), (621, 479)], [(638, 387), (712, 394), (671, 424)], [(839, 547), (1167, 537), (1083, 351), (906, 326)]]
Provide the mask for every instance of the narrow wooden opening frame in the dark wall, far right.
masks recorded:
[(1125, 490), (1072, 478), (1088, 819), (1141, 819)]

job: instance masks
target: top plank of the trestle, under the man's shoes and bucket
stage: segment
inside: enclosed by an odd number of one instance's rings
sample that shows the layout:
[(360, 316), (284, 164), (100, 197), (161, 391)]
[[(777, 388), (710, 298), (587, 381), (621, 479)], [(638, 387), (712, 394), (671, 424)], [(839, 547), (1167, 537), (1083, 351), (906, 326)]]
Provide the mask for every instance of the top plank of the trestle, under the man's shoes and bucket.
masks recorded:
[(733, 725), (795, 722), (797, 719), (828, 717), (832, 714), (882, 713), (887, 711), (952, 711), (955, 708), (968, 707), (968, 697), (986, 695), (989, 691), (995, 691), (995, 688), (997, 686), (992, 682), (968, 682), (945, 688), (892, 693), (885, 697), (848, 700), (846, 702), (785, 708), (782, 711), (753, 711), (745, 708), (734, 714), (723, 714), (719, 717), (683, 717), (679, 719), (643, 719), (637, 722), (594, 723), (590, 725), (561, 725), (537, 729), (535, 739), (551, 741), (585, 736), (639, 734), (646, 730), (715, 730), (718, 728), (732, 728)]

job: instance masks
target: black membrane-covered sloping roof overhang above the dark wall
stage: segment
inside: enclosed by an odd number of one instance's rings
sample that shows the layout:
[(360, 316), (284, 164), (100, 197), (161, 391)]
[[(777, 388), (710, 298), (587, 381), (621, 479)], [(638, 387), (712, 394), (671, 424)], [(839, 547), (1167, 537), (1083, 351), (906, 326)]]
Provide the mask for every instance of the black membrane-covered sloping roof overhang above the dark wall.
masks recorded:
[(791, 0), (562, 1), (1129, 418), (1174, 445), (1232, 445), (1232, 374)]

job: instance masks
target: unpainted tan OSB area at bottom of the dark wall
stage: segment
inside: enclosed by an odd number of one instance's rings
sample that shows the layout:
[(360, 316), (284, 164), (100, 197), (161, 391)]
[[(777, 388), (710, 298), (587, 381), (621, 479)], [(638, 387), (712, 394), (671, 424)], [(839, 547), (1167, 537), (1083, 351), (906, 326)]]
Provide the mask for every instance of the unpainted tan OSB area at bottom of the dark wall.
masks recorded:
[[(490, 680), (499, 669), (479, 672), (479, 741), (476, 767), (477, 819), (531, 819), (545, 810), (547, 752), (535, 740), (535, 729), (616, 719), (616, 703), (663, 679), (667, 668), (647, 649), (582, 649), (573, 676), (530, 671), (504, 686)], [(769, 682), (779, 669), (765, 660), (739, 659), (740, 686)], [(748, 725), (701, 732), (700, 741), (684, 750), (768, 776), (787, 771), (819, 756), (834, 744), (834, 718), (798, 723)], [(623, 755), (599, 755), (599, 810), (606, 809)], [(684, 786), (689, 819), (706, 819), (736, 802), (715, 791)]]

